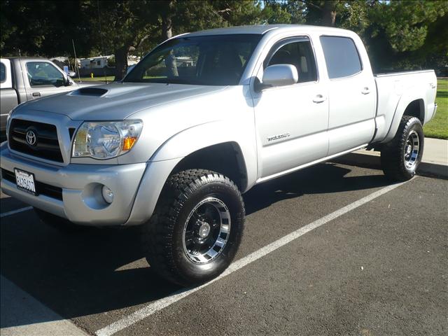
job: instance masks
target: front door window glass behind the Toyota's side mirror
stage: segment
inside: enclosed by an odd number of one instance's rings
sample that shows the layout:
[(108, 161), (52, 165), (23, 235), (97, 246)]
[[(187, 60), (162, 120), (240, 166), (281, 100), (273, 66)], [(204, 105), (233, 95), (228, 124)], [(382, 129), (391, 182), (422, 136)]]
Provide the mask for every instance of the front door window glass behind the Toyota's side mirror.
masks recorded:
[(299, 83), (317, 80), (316, 60), (309, 41), (296, 41), (283, 45), (269, 59), (266, 66), (291, 64), (299, 74)]

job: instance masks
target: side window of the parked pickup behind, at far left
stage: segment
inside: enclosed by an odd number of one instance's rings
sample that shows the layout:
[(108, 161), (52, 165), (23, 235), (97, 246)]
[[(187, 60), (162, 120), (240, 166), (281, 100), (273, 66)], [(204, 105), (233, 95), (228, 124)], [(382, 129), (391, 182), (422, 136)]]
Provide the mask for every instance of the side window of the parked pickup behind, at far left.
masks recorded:
[(27, 62), (27, 73), (31, 87), (64, 85), (62, 73), (48, 62)]

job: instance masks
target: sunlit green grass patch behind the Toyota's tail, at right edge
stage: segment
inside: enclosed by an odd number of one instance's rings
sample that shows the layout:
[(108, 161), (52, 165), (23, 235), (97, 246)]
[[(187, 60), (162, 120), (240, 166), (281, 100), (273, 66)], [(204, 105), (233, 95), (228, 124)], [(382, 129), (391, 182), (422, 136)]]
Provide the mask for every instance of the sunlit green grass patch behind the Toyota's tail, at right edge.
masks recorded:
[(448, 139), (448, 79), (437, 80), (437, 113), (435, 118), (423, 127), (425, 137)]

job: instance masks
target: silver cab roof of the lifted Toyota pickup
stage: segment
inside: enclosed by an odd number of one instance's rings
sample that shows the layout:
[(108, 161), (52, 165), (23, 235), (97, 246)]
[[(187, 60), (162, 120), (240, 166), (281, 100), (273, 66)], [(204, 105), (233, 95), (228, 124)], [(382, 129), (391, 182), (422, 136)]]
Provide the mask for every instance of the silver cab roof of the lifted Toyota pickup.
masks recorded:
[[(251, 25), (251, 26), (237, 26), (237, 27), (225, 27), (216, 29), (207, 29), (202, 31), (195, 31), (193, 33), (187, 33), (188, 36), (207, 36), (207, 35), (227, 35), (227, 34), (265, 34), (267, 31), (287, 31), (287, 30), (301, 30), (303, 32), (311, 31), (345, 31), (346, 29), (321, 27), (311, 25)], [(185, 34), (185, 35), (187, 35)]]

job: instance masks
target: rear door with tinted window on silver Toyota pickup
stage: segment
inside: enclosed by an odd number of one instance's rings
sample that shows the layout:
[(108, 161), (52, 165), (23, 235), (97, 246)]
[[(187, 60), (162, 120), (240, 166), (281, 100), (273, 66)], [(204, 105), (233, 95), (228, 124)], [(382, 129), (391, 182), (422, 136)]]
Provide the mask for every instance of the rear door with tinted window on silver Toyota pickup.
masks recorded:
[(328, 71), (328, 155), (370, 142), (375, 130), (376, 85), (349, 37), (320, 36)]

